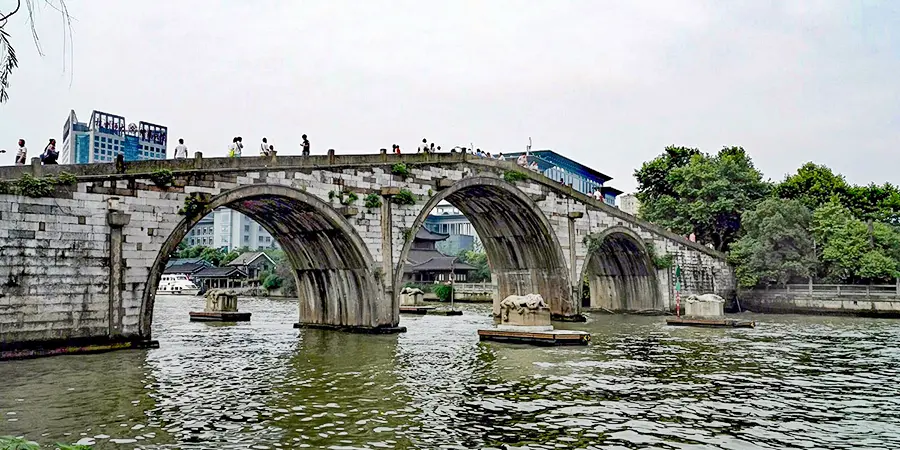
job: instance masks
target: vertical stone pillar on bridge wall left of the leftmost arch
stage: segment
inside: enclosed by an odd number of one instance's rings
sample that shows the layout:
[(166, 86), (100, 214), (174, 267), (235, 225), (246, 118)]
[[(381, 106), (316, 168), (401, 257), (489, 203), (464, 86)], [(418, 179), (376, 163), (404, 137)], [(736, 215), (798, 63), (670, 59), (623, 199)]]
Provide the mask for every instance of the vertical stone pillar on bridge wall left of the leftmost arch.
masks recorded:
[(119, 198), (107, 200), (106, 223), (109, 225), (109, 337), (122, 335), (125, 308), (122, 291), (125, 290), (125, 260), (122, 257), (124, 236), (122, 229), (131, 221), (131, 215), (122, 212)]

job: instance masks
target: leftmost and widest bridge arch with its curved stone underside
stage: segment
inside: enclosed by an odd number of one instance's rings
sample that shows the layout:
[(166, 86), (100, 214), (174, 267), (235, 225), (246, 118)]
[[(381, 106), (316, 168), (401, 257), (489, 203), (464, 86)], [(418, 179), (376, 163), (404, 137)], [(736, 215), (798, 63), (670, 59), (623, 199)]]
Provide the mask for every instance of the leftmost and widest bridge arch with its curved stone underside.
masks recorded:
[(340, 213), (299, 189), (253, 184), (212, 197), (202, 211), (182, 218), (166, 238), (144, 288), (142, 336), (150, 336), (156, 289), (169, 255), (201, 218), (221, 206), (250, 217), (281, 245), (297, 282), (300, 323), (365, 329), (399, 322), (383, 295), (372, 255)]

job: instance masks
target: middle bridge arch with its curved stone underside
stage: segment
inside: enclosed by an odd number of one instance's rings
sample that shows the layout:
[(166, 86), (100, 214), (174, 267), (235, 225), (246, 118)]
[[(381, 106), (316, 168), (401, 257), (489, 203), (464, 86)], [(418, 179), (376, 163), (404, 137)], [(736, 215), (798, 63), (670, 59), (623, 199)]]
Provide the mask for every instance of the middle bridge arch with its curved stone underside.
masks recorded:
[[(415, 236), (434, 207), (444, 200), (459, 209), (481, 237), (500, 298), (540, 293), (555, 316), (577, 314), (557, 233), (526, 193), (493, 176), (463, 178), (428, 200), (409, 236)], [(394, 270), (394, 286), (401, 285), (411, 247), (412, 239), (406, 239)], [(398, 292), (395, 289), (394, 295)]]

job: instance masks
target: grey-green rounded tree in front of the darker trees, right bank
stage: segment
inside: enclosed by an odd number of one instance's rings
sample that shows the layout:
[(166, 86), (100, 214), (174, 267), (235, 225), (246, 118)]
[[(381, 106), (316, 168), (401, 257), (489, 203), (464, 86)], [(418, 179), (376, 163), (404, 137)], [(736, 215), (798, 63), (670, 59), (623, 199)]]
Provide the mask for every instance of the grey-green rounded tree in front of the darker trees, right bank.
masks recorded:
[(729, 259), (741, 286), (786, 284), (809, 277), (816, 266), (812, 214), (799, 200), (770, 198), (741, 217), (743, 236)]

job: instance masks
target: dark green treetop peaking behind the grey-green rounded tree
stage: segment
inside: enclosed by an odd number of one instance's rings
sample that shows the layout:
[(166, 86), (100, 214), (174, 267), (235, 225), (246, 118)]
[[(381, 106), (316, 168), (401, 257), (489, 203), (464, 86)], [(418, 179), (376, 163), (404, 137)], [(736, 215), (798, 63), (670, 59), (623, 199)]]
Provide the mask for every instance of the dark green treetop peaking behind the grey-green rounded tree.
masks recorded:
[(810, 210), (815, 210), (832, 200), (843, 199), (850, 185), (843, 176), (826, 166), (808, 162), (797, 173), (785, 177), (774, 188), (776, 197), (796, 199)]

